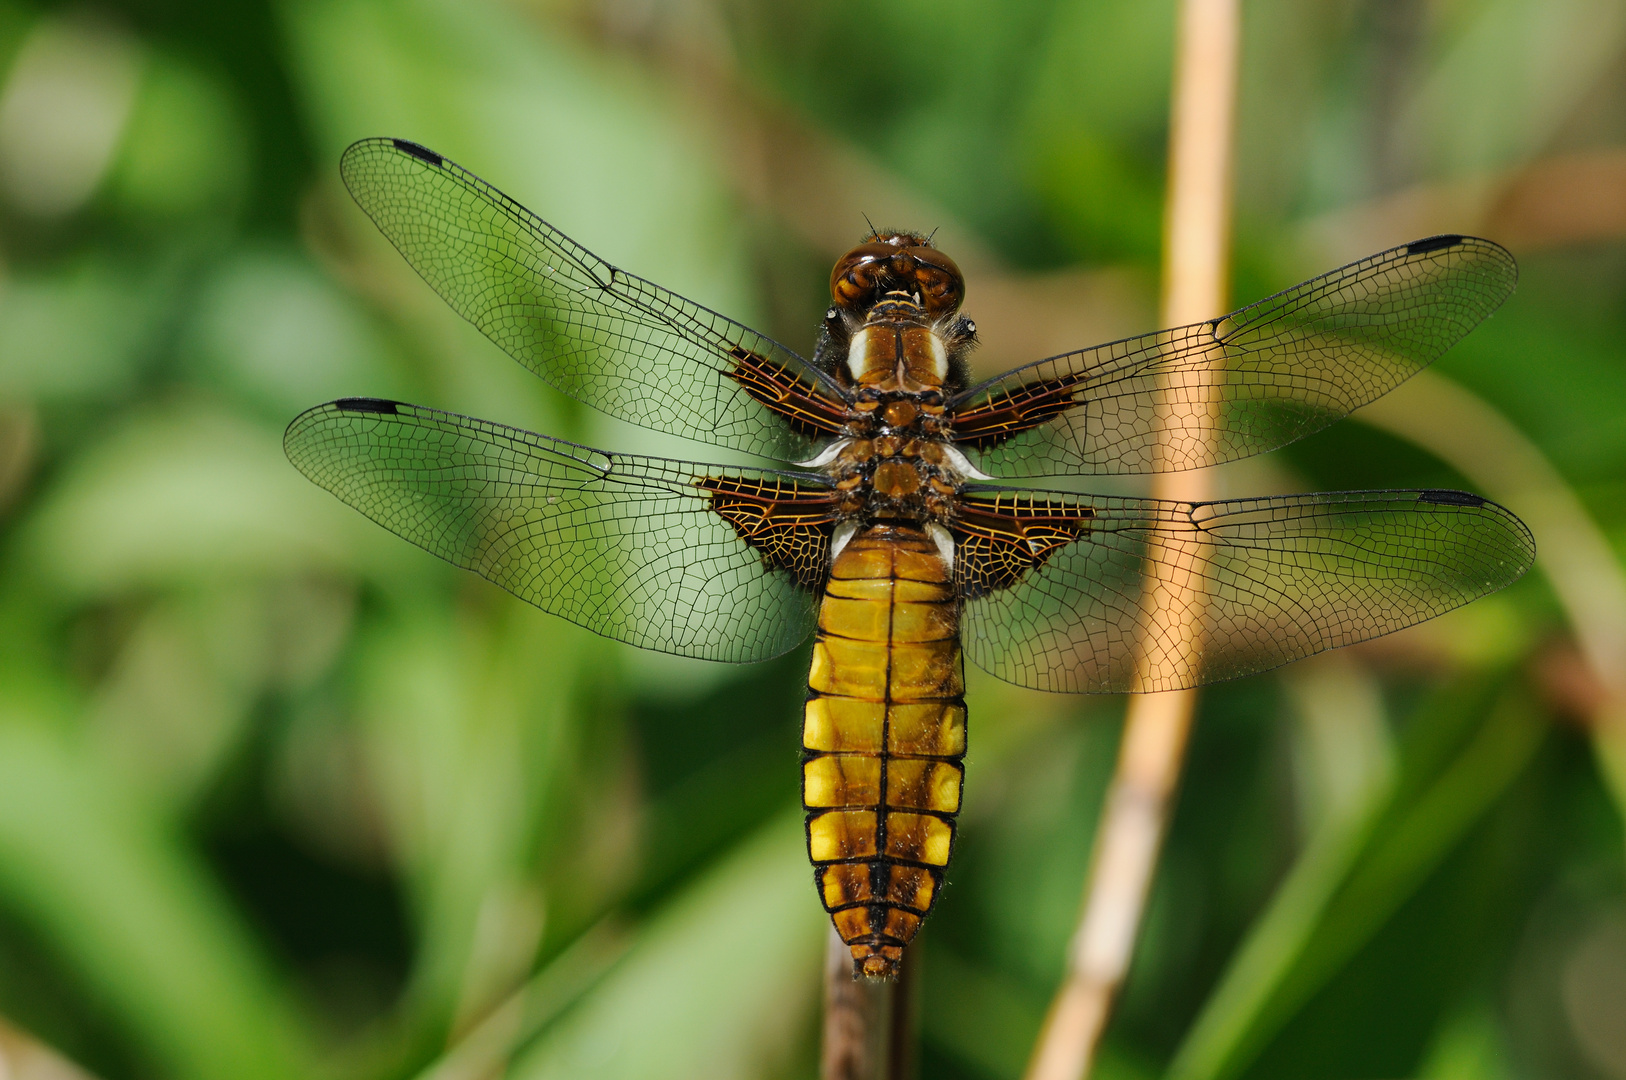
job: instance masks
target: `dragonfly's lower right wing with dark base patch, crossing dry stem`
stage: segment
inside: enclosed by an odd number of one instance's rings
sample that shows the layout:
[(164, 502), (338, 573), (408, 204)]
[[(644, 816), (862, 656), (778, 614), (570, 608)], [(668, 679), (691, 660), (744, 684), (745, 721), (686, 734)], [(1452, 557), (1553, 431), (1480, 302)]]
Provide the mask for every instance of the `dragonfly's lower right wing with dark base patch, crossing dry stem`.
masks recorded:
[[(966, 655), (1068, 693), (1263, 672), (1449, 612), (1535, 560), (1517, 517), (1460, 491), (1190, 504), (990, 490), (967, 507)], [(979, 532), (992, 555), (964, 558)], [(979, 581), (992, 589), (976, 595)]]

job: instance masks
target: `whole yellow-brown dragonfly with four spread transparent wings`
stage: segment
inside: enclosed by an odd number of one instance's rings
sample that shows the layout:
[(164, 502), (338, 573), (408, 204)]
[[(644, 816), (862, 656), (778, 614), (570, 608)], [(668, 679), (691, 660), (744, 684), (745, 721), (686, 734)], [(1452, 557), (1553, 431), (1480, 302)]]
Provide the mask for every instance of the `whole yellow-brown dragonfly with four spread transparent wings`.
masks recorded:
[(1512, 255), (1485, 239), (1433, 236), (974, 381), (964, 277), (919, 233), (872, 231), (841, 257), (808, 359), (418, 143), (358, 142), (340, 172), (528, 371), (763, 460), (620, 454), (372, 397), (285, 436), (294, 467), (377, 524), (606, 638), (738, 664), (811, 633), (806, 849), (855, 978), (896, 976), (943, 888), (967, 657), (1046, 691), (1189, 688), (1411, 626), (1535, 560), (1514, 514), (1465, 491), (1179, 503), (1031, 483), (1202, 468), (1325, 428), (1512, 293)]

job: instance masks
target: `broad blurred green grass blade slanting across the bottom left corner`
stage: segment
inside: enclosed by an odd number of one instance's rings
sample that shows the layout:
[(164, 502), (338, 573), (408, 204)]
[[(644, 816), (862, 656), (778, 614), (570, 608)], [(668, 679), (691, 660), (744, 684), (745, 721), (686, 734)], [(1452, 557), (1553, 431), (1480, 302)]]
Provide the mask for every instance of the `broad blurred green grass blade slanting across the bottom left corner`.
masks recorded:
[(311, 1075), (296, 1008), (167, 823), (15, 716), (0, 724), (0, 903), (163, 1075)]

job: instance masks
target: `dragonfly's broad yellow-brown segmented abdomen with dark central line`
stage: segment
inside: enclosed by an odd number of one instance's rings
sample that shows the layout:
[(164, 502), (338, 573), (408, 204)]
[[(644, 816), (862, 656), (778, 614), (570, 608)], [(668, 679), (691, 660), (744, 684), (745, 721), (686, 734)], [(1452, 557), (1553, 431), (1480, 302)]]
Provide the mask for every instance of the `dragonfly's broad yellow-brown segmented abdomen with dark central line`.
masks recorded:
[(831, 561), (802, 727), (813, 875), (863, 974), (896, 974), (937, 899), (964, 755), (948, 563), (920, 529), (875, 525)]

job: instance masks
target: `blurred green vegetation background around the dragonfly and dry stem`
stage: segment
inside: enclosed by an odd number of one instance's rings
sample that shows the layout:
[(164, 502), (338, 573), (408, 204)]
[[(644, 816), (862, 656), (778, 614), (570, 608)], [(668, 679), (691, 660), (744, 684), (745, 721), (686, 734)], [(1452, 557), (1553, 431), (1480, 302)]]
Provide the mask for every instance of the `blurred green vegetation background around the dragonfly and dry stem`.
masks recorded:
[[(1626, 1078), (1626, 592), (1587, 548), (1626, 550), (1626, 5), (1244, 11), (1239, 303), (1437, 231), (1524, 278), (1442, 377), (1226, 490), (1476, 486), (1543, 564), (1205, 696), (1102, 1073)], [(346, 394), (660, 446), (460, 324), (338, 153), (420, 140), (800, 350), (860, 213), (941, 226), (993, 369), (1150, 329), (1171, 33), (1167, 0), (0, 0), (0, 1075), (813, 1075), (805, 654), (595, 639), (283, 460)], [(1026, 1060), (1122, 711), (971, 704), (920, 942), (922, 1075), (967, 1080)]]

